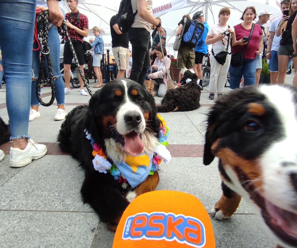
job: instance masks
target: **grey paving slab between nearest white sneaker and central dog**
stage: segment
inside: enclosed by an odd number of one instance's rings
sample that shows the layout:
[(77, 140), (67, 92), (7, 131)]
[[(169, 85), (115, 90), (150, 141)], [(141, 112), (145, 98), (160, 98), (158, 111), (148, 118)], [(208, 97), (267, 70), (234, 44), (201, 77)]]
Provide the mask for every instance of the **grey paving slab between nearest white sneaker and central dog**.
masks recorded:
[[(9, 168), (5, 159), (4, 170), (18, 170)], [(82, 202), (83, 179), (83, 170), (71, 156), (45, 155), (0, 187), (0, 210), (94, 212)]]

